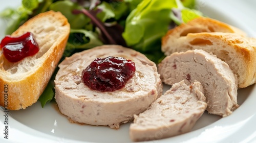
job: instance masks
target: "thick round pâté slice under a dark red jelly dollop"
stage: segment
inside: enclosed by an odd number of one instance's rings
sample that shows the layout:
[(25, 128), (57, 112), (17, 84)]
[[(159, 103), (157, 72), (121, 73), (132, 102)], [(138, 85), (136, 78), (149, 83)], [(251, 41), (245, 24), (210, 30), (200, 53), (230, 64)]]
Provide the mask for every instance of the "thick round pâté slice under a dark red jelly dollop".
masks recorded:
[[(125, 86), (115, 91), (92, 90), (81, 81), (82, 70), (96, 58), (123, 57), (136, 71)], [(144, 55), (119, 45), (102, 45), (76, 53), (59, 64), (55, 99), (62, 114), (72, 121), (119, 128), (133, 120), (162, 95), (156, 64)]]

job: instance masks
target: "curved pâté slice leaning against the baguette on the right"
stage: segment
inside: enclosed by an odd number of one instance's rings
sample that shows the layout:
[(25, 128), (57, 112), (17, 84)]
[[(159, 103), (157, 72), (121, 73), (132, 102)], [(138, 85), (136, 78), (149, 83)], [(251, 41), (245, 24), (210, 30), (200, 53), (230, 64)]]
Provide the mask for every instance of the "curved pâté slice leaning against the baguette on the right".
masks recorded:
[(227, 116), (238, 107), (238, 80), (228, 64), (203, 50), (174, 53), (159, 64), (164, 83), (173, 85), (184, 80), (201, 82), (207, 100), (207, 111)]

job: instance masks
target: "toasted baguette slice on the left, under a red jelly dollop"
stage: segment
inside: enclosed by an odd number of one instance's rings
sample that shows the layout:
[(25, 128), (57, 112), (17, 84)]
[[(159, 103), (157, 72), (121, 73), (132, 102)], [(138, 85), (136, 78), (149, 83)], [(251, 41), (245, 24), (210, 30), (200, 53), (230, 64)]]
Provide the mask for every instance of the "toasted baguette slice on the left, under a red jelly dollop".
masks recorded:
[(8, 86), (8, 105), (4, 94), (0, 105), (10, 110), (25, 109), (35, 103), (56, 68), (70, 33), (70, 25), (60, 12), (48, 11), (34, 16), (20, 26), (12, 36), (26, 32), (34, 34), (39, 52), (19, 62), (9, 62), (0, 55), (0, 90)]

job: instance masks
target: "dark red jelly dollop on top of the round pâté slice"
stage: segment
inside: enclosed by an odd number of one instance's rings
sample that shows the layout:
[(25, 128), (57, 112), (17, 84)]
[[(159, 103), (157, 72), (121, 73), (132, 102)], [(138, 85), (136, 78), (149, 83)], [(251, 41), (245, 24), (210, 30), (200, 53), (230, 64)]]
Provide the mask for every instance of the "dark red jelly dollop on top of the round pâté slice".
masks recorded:
[(82, 82), (93, 90), (114, 91), (124, 87), (135, 70), (135, 63), (122, 57), (96, 58), (83, 69)]

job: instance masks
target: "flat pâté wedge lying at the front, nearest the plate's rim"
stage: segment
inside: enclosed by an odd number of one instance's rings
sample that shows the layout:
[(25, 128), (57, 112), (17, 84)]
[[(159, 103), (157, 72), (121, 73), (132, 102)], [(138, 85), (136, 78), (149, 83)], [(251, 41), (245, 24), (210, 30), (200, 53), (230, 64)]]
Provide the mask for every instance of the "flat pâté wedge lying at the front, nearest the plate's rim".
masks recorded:
[(139, 115), (130, 126), (133, 141), (161, 139), (189, 132), (207, 104), (200, 82), (175, 83), (163, 96)]

